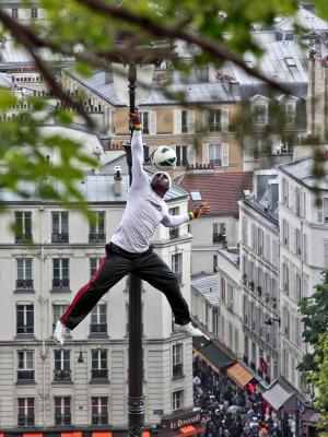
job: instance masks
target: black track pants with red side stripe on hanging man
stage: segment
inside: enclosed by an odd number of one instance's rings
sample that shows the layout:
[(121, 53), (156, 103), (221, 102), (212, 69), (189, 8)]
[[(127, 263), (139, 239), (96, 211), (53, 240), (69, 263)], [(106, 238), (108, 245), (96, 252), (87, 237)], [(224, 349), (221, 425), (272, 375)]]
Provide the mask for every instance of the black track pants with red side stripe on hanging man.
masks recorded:
[(190, 321), (188, 305), (181, 295), (176, 274), (153, 252), (152, 247), (142, 253), (130, 253), (113, 243), (106, 245), (106, 256), (95, 275), (77, 293), (60, 321), (67, 328), (74, 329), (103, 295), (131, 272), (165, 294), (176, 323)]

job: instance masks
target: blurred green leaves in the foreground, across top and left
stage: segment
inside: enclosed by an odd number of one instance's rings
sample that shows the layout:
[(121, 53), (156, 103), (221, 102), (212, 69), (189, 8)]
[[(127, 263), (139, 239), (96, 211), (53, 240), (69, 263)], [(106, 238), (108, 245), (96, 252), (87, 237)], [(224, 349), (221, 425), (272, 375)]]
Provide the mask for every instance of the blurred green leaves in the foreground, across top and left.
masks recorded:
[[(315, 0), (314, 4), (321, 16), (327, 19), (327, 2)], [(22, 5), (27, 7), (28, 0), (24, 0)], [(140, 51), (140, 46), (153, 40), (166, 43), (162, 57), (171, 59), (174, 69), (184, 71), (187, 76), (195, 66), (210, 62), (220, 67), (229, 59), (239, 60), (247, 69), (244, 54), (256, 57), (262, 54), (251, 37), (253, 25), (269, 28), (277, 16), (293, 15), (297, 11), (295, 0), (207, 0), (201, 4), (199, 0), (66, 0), (60, 8), (58, 0), (39, 0), (39, 5), (44, 10), (40, 13), (45, 14), (45, 20), (35, 20), (30, 24), (16, 23), (0, 14), (1, 28), (3, 34), (11, 32), (17, 44), (25, 46), (36, 60), (39, 59), (39, 67), (44, 70), (42, 72), (49, 71), (54, 78), (55, 64), (42, 59), (39, 47), (48, 47), (66, 59), (75, 58), (72, 70), (86, 76), (99, 64), (108, 64), (118, 54), (130, 59)], [(28, 38), (22, 32), (22, 26), (32, 31)], [(185, 42), (188, 62), (184, 58), (176, 58), (174, 50), (177, 40)], [(118, 42), (124, 42), (125, 46), (118, 46)], [(256, 68), (253, 72), (259, 74)], [(57, 80), (49, 83), (49, 91), (62, 102), (60, 90), (55, 86), (57, 83)], [(169, 81), (166, 85), (169, 85)], [(273, 93), (274, 88), (271, 90)], [(168, 88), (166, 92), (169, 94)], [(81, 103), (82, 96), (77, 97)], [(185, 99), (184, 93), (178, 93), (176, 97), (181, 102)], [(1, 120), (15, 105), (15, 98), (10, 92), (1, 92)], [(26, 99), (30, 108), (25, 113), (21, 111), (20, 118), (0, 121), (0, 161), (3, 163), (0, 188), (28, 197), (24, 184), (34, 181), (38, 185), (42, 198), (65, 203), (78, 202), (86, 212), (86, 204), (75, 187), (77, 181), (83, 178), (83, 168), (94, 167), (95, 161), (82, 151), (81, 144), (59, 135), (45, 137), (40, 130), (40, 126), (49, 121), (69, 126), (72, 113), (47, 105), (43, 97)], [(62, 102), (63, 108), (71, 103), (72, 97), (67, 96)], [(260, 132), (265, 139), (271, 132), (284, 130), (284, 115), (279, 105), (273, 106), (270, 113), (276, 121)], [(231, 123), (231, 129), (241, 138), (250, 127), (254, 127), (254, 122), (248, 108), (241, 110), (239, 117)], [(199, 144), (199, 137), (196, 135), (195, 141)], [(292, 143), (293, 139), (289, 141)], [(56, 153), (58, 162), (50, 163), (40, 144)], [(60, 190), (57, 190), (58, 186)]]

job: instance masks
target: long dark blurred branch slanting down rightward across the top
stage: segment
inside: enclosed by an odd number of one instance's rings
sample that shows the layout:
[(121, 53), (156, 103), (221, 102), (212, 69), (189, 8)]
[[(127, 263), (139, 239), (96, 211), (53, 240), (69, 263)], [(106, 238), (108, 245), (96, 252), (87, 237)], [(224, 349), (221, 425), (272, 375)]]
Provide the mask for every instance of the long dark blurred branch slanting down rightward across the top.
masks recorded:
[(266, 82), (270, 87), (279, 90), (282, 93), (290, 94), (290, 91), (285, 86), (266, 76), (260, 71), (248, 67), (242, 58), (234, 55), (232, 51), (226, 50), (218, 43), (202, 38), (201, 36), (195, 36), (190, 33), (183, 31), (181, 28), (174, 28), (155, 23), (147, 16), (137, 15), (133, 12), (130, 12), (124, 8), (113, 7), (108, 3), (104, 3), (102, 0), (78, 0), (78, 2), (89, 7), (90, 9), (93, 9), (94, 11), (106, 13), (113, 19), (121, 20), (130, 24), (137, 25), (143, 31), (148, 31), (149, 34), (155, 37), (183, 39), (186, 43), (194, 44), (209, 55), (212, 55), (219, 59), (234, 62), (236, 66), (239, 66), (250, 75)]

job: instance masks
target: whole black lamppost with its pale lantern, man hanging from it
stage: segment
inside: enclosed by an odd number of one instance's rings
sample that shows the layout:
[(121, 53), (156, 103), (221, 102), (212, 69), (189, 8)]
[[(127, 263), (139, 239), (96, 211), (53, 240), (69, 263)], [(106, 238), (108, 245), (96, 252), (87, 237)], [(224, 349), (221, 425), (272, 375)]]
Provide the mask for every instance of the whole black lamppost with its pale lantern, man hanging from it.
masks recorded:
[[(148, 51), (149, 54), (149, 51)], [(113, 81), (117, 97), (133, 113), (136, 105), (148, 98), (154, 61), (142, 64), (140, 61), (113, 63)], [(137, 93), (137, 79), (141, 80), (139, 93)], [(128, 91), (128, 93), (127, 93)], [(132, 137), (133, 126), (129, 126)], [(129, 180), (132, 181), (131, 166), (132, 156), (130, 144), (126, 144), (126, 156), (129, 167)], [(143, 401), (143, 359), (142, 359), (142, 305), (141, 305), (141, 280), (136, 274), (130, 274), (129, 281), (129, 437), (141, 437), (144, 423), (144, 401)]]

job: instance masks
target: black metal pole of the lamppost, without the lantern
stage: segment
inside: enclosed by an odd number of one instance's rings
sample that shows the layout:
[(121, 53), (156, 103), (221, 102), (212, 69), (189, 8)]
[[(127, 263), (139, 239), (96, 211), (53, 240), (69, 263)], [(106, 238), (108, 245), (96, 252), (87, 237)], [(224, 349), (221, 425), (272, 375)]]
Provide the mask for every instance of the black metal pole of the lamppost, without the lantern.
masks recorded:
[[(129, 98), (130, 111), (136, 107), (136, 64), (129, 66)], [(132, 135), (133, 126), (130, 126)], [(131, 175), (131, 149), (126, 147), (129, 166), (130, 185)], [(141, 307), (141, 280), (136, 274), (130, 274), (129, 284), (129, 437), (141, 437), (144, 422), (144, 402), (142, 391), (143, 361), (142, 361), (142, 307)]]

